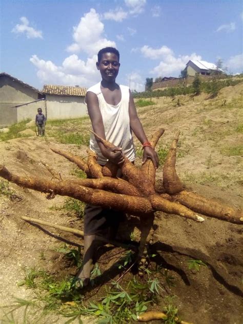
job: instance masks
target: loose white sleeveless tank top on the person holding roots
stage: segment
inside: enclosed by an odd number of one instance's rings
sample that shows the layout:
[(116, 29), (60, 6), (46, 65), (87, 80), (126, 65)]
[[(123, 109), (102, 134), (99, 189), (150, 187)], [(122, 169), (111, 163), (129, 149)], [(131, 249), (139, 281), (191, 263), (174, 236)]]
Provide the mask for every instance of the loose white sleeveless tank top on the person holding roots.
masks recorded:
[[(98, 97), (99, 109), (102, 114), (106, 139), (117, 147), (121, 147), (130, 161), (135, 159), (135, 148), (132, 139), (132, 130), (129, 118), (129, 87), (120, 85), (122, 99), (117, 105), (106, 102), (100, 89), (100, 82), (90, 87), (87, 92), (93, 92)], [(94, 135), (90, 138), (90, 149), (98, 155), (98, 163), (105, 165), (107, 158), (100, 152)]]

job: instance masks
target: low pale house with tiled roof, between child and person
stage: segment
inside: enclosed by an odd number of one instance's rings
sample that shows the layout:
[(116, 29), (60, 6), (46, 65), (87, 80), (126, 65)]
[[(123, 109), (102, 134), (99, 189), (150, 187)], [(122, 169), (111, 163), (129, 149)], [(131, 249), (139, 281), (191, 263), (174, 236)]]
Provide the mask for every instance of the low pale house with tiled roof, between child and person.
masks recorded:
[(86, 88), (44, 85), (47, 119), (79, 118), (87, 115)]

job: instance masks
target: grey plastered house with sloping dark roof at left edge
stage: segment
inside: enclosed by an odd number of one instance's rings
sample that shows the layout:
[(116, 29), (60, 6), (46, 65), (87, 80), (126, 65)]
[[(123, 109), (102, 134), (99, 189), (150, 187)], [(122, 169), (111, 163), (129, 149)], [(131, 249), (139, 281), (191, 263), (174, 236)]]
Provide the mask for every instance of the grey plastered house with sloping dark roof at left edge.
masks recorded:
[(45, 96), (8, 73), (0, 73), (0, 125), (11, 125), (31, 118), (40, 107), (45, 112)]

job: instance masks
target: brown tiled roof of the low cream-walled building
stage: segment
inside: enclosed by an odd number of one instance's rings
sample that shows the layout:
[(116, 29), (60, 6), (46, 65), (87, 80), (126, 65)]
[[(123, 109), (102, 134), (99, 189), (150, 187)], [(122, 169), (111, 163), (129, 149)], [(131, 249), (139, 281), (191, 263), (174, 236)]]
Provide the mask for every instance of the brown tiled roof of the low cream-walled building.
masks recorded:
[(86, 95), (87, 89), (81, 87), (71, 87), (71, 86), (53, 86), (44, 85), (43, 93), (55, 94), (59, 96), (82, 96)]

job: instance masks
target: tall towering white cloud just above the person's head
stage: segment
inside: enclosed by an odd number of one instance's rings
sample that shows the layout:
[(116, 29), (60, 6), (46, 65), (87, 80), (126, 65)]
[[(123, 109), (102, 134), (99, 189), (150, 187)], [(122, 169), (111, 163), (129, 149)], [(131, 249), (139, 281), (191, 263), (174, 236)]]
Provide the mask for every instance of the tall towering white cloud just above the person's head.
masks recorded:
[(115, 47), (115, 42), (103, 38), (103, 33), (104, 24), (100, 22), (99, 14), (91, 8), (90, 11), (80, 19), (79, 24), (73, 27), (74, 43), (71, 44), (67, 50), (71, 53), (83, 51), (92, 56), (104, 47)]

